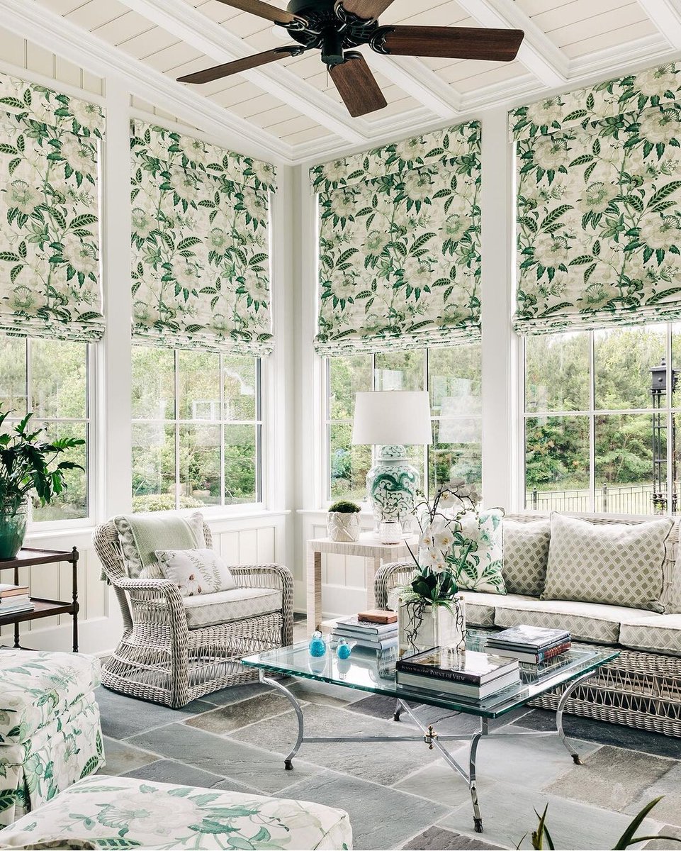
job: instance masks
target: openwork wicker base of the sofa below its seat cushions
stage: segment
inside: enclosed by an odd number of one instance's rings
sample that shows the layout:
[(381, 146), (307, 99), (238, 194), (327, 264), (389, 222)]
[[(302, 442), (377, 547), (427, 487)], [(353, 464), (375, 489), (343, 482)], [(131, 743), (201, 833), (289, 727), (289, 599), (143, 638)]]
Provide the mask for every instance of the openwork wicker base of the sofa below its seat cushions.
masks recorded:
[[(555, 711), (562, 692), (555, 689), (530, 705)], [(681, 737), (681, 658), (622, 650), (575, 689), (565, 712)]]

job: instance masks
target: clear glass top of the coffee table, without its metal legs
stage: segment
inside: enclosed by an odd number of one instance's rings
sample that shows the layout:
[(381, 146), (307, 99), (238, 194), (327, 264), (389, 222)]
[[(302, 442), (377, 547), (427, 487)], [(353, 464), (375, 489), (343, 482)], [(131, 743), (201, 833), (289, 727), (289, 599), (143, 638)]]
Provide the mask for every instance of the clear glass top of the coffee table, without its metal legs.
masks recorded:
[[(486, 640), (493, 631), (468, 630), (466, 648), (486, 651)], [(268, 650), (242, 659), (243, 665), (265, 671), (304, 677), (322, 683), (356, 688), (374, 694), (416, 701), (431, 706), (441, 706), (452, 711), (468, 712), (486, 718), (496, 718), (538, 697), (551, 688), (569, 683), (600, 665), (616, 659), (617, 650), (595, 648), (587, 644), (574, 644), (567, 653), (560, 654), (543, 665), (520, 663), (520, 683), (516, 683), (484, 700), (464, 700), (444, 692), (419, 689), (395, 683), (394, 665), (397, 648), (378, 654), (375, 650), (355, 647), (347, 660), (340, 660), (333, 650), (332, 639), (325, 636), (326, 655), (310, 656), (309, 642)], [(496, 651), (493, 651), (496, 652)]]

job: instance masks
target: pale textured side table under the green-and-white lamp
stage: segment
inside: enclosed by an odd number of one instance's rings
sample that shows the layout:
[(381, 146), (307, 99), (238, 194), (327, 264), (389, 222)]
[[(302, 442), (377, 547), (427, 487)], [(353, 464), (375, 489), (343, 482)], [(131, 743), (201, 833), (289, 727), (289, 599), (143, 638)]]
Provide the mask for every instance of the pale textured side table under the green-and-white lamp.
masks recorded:
[[(407, 546), (407, 544), (409, 546)], [(327, 553), (335, 556), (360, 556), (366, 558), (366, 608), (376, 608), (373, 592), (373, 578), (383, 562), (411, 561), (412, 551), (418, 547), (417, 538), (401, 540), (399, 544), (382, 544), (376, 534), (361, 534), (360, 540), (344, 541), (331, 538), (314, 538), (308, 541), (307, 571), (307, 611), (308, 630), (318, 629), (321, 625), (321, 556)], [(414, 565), (416, 570), (416, 565)]]

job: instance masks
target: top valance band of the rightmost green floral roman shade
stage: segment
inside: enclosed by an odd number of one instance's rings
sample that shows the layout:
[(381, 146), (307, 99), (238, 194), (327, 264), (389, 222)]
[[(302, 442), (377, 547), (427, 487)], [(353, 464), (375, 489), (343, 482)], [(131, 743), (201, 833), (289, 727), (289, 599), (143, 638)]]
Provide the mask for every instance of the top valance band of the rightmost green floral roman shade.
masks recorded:
[(668, 63), (638, 74), (616, 77), (587, 89), (556, 94), (508, 113), (511, 141), (560, 135), (580, 130), (607, 135), (629, 127), (644, 114), (651, 141), (675, 135), (668, 125), (678, 125), (681, 106), (681, 65)]

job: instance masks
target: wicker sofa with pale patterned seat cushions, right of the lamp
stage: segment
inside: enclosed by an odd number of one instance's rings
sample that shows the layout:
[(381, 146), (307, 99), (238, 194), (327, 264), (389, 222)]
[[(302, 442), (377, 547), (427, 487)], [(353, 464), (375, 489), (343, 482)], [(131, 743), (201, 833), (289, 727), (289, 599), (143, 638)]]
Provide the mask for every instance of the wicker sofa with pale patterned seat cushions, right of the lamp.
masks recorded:
[[(507, 515), (505, 519), (531, 523), (542, 514)], [(602, 517), (582, 517), (591, 523), (621, 523)], [(641, 523), (630, 520), (627, 523)], [(625, 724), (681, 737), (681, 557), (678, 557), (678, 521), (667, 539), (663, 602), (672, 614), (570, 600), (541, 600), (521, 594), (480, 594), (466, 591), (470, 626), (504, 629), (519, 624), (555, 626), (570, 630), (575, 640), (615, 646), (620, 655), (578, 686), (565, 711), (574, 715)], [(681, 555), (681, 554), (679, 554)], [(413, 564), (386, 564), (376, 574), (378, 608), (388, 608), (389, 592), (404, 585)], [(675, 604), (669, 605), (674, 599)], [(561, 690), (533, 705), (556, 709)]]

